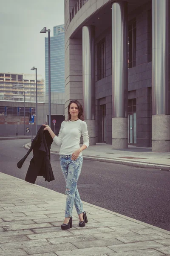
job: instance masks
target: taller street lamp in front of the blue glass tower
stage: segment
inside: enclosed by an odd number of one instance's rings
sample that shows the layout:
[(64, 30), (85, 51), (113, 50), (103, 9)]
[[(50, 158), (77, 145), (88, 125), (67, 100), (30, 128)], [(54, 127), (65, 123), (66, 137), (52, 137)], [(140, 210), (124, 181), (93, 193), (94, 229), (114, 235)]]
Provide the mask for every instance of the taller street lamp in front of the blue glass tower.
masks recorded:
[(48, 125), (51, 127), (51, 63), (50, 63), (50, 29), (44, 27), (40, 33), (48, 32)]

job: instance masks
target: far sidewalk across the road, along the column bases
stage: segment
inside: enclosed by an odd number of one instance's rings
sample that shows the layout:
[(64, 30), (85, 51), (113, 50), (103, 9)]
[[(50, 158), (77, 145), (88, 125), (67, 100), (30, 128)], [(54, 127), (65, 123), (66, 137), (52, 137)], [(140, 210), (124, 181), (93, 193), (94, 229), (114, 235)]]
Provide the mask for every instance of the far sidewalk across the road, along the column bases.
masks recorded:
[[(26, 144), (25, 148), (30, 148), (30, 145), (31, 143)], [(59, 154), (59, 149), (60, 147), (53, 142), (51, 153)], [(112, 145), (97, 143), (94, 146), (89, 146), (82, 154), (86, 160), (170, 171), (170, 152), (153, 153), (151, 148), (129, 146), (127, 150), (114, 150)]]

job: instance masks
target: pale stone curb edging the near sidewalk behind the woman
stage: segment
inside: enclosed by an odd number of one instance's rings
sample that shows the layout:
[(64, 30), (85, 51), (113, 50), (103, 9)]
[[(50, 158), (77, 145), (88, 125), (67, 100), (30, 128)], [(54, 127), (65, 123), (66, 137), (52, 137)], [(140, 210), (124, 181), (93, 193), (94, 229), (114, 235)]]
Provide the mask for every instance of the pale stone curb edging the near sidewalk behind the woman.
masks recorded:
[[(6, 174), (6, 173), (2, 173), (2, 174), (3, 174), (3, 175), (7, 175), (7, 176), (11, 176), (11, 175), (8, 175), (8, 174)], [(17, 177), (14, 177), (14, 176), (11, 176), (11, 177), (14, 178), (14, 179), (20, 180), (20, 181), (22, 181), (22, 182), (24, 182), (24, 183), (27, 183), (27, 181), (22, 180), (22, 179), (20, 179), (20, 178), (17, 178)], [(54, 190), (52, 190), (52, 189), (45, 188), (45, 187), (40, 186), (40, 185), (37, 185), (37, 184), (29, 183), (29, 185), (31, 185), (31, 186), (37, 186), (37, 187), (39, 187), (39, 188), (41, 188), (41, 189), (43, 188), (43, 189), (48, 190), (48, 191), (51, 191), (51, 192), (53, 192), (53, 193), (54, 193), (54, 192), (55, 192), (55, 193), (58, 193), (58, 194), (60, 194), (63, 198), (66, 197), (65, 194), (62, 194), (62, 193), (57, 192), (57, 191), (54, 191)], [(142, 221), (138, 221), (138, 220), (133, 219), (133, 218), (130, 218), (130, 217), (126, 216), (126, 215), (122, 215), (122, 214), (120, 214), (120, 213), (118, 213), (118, 212), (113, 212), (113, 211), (111, 211), (111, 210), (108, 210), (108, 209), (105, 209), (105, 208), (96, 206), (96, 205), (94, 205), (94, 204), (90, 204), (90, 203), (85, 202), (85, 201), (82, 201), (82, 203), (85, 204), (85, 205), (94, 207), (94, 208), (96, 208), (96, 209), (100, 209), (100, 210), (102, 210), (102, 211), (104, 211), (104, 212), (108, 212), (108, 213), (111, 213), (111, 214), (113, 214), (113, 215), (117, 215), (117, 216), (122, 217), (122, 218), (125, 218), (125, 219), (127, 219), (127, 220), (129, 220), (129, 221), (136, 222), (136, 223), (141, 224), (141, 225), (143, 225), (143, 226), (146, 226), (146, 227), (148, 227), (148, 228), (152, 228), (152, 229), (155, 229), (155, 230), (158, 230), (158, 231), (160, 231), (160, 232), (164, 232), (164, 233), (167, 233), (167, 234), (170, 235), (170, 231), (164, 230), (164, 229), (162, 229), (162, 228), (160, 228), (160, 227), (156, 227), (156, 226), (153, 226), (153, 225), (151, 225), (151, 224), (148, 224), (148, 223), (145, 223), (145, 222), (142, 222)]]

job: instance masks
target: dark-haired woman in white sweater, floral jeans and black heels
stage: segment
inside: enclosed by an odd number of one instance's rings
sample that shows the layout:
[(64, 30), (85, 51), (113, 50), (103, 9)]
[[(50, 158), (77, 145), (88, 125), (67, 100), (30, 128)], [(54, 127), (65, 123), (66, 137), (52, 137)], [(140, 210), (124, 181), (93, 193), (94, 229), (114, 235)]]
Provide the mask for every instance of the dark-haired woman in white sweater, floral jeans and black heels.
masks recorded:
[[(82, 169), (82, 151), (88, 147), (88, 129), (84, 122), (84, 111), (82, 105), (73, 100), (68, 105), (68, 120), (63, 121), (57, 137), (48, 125), (44, 125), (57, 145), (61, 145), (59, 151), (60, 165), (66, 181), (66, 208), (65, 220), (61, 225), (63, 230), (72, 227), (72, 210), (75, 205), (79, 215), (79, 227), (84, 227), (88, 222), (83, 210), (82, 201), (77, 189), (77, 180)], [(80, 137), (83, 137), (83, 145), (80, 148)]]

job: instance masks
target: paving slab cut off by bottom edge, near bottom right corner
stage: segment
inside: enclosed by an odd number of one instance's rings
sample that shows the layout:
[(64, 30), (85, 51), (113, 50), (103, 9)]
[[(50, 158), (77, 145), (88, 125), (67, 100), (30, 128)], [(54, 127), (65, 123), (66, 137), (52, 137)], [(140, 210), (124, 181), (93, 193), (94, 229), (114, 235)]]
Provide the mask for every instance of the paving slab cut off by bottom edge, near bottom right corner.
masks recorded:
[(154, 249), (146, 250), (135, 250), (132, 252), (123, 252), (123, 253), (108, 253), (108, 256), (163, 256), (163, 253), (158, 252)]

